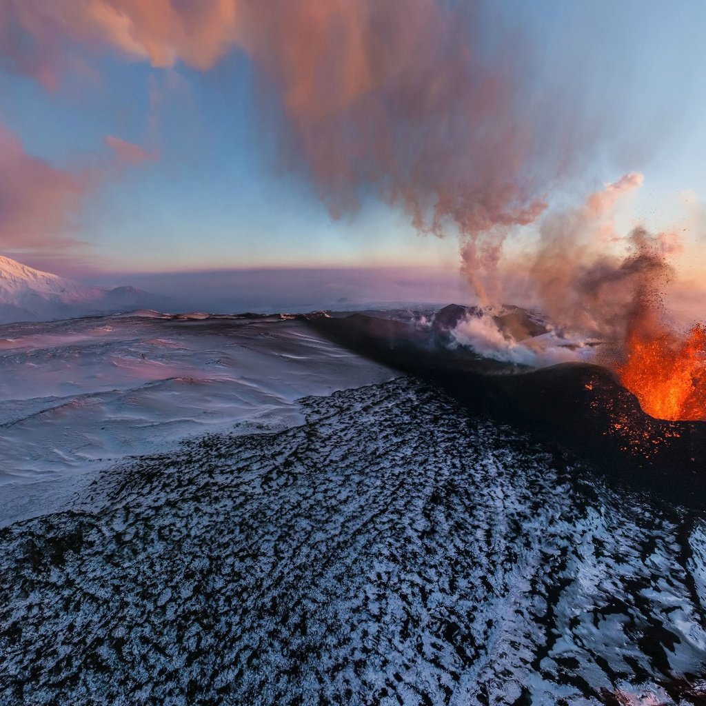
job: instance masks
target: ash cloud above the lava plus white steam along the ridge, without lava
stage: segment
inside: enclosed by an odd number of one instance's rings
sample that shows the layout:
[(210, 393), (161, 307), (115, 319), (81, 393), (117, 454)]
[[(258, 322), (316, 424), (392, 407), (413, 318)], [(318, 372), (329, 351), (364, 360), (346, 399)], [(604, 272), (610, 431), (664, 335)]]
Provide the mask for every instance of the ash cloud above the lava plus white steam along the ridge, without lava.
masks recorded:
[[(537, 244), (521, 261), (512, 261), (504, 277), (491, 280), (498, 292), (503, 279), (520, 280), (515, 297), (542, 311), (546, 335), (517, 340), (496, 325), (501, 308), (493, 303), (460, 321), (455, 340), (504, 361), (544, 366), (592, 359), (617, 371), (635, 340), (664, 341), (677, 349), (681, 335), (665, 301), (681, 238), (640, 226), (620, 234), (614, 220), (621, 199), (642, 183), (642, 174), (631, 172), (590, 194), (578, 208), (546, 215), (538, 224)], [(492, 257), (498, 263), (501, 238), (495, 246)]]

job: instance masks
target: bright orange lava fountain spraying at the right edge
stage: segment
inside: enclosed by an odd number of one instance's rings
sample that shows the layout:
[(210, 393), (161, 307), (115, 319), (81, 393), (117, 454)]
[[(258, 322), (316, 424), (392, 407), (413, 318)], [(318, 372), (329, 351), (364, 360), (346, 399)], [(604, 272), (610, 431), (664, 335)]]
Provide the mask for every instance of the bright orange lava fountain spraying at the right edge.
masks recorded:
[(696, 324), (683, 338), (630, 333), (626, 359), (617, 373), (652, 417), (706, 420), (705, 325)]

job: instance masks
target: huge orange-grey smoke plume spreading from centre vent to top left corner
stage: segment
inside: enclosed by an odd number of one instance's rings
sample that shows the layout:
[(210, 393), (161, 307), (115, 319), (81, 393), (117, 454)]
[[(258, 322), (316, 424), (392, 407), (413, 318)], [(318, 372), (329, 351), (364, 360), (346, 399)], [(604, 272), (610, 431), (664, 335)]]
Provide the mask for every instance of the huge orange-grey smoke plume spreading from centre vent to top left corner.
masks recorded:
[(444, 0), (0, 0), (0, 54), (56, 88), (80, 61), (76, 47), (202, 70), (234, 48), (245, 52), (275, 92), (285, 151), (306, 165), (330, 213), (354, 213), (375, 195), (402, 208), (419, 232), (456, 233), (470, 281), (491, 299), (486, 282), (504, 234), (542, 213), (543, 194), (568, 161), (561, 145), (571, 140), (559, 134), (569, 121), (556, 102), (528, 88), (532, 61), (520, 37), (494, 37), (501, 30), (479, 8)]

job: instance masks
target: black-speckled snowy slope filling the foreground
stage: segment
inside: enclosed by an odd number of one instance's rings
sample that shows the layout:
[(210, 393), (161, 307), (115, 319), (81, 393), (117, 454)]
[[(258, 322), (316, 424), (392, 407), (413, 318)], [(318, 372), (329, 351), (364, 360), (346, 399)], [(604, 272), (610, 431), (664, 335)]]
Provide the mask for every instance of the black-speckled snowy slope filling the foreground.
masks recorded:
[(1, 530), (0, 702), (702, 702), (700, 516), (414, 381), (301, 405)]

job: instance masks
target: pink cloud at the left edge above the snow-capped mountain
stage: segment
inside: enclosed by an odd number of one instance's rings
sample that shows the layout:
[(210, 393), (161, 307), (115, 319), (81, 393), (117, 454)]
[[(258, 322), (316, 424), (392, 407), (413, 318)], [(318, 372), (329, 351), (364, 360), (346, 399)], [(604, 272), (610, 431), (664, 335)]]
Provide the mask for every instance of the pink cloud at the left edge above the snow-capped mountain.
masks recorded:
[(80, 176), (28, 154), (0, 126), (0, 246), (33, 249), (71, 243), (65, 233), (85, 190)]

